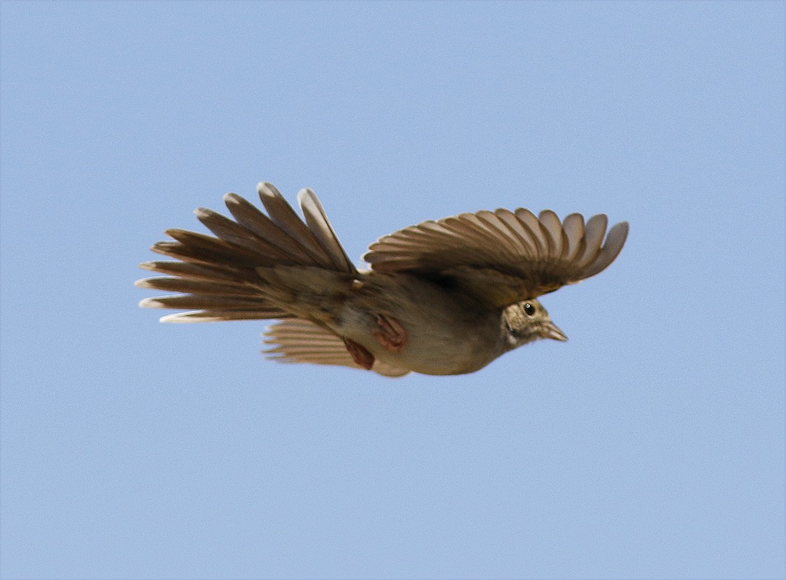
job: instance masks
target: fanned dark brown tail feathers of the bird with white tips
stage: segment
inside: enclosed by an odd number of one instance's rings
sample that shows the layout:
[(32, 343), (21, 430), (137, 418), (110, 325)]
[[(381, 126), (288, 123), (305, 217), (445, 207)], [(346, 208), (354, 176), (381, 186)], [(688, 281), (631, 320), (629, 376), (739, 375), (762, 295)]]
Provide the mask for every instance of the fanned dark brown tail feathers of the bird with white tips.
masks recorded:
[(303, 189), (298, 194), (305, 218), (301, 220), (273, 185), (260, 183), (257, 191), (267, 215), (240, 195), (228, 193), (224, 202), (234, 221), (204, 208), (194, 212), (215, 237), (168, 229), (166, 234), (174, 242), (158, 242), (151, 250), (177, 261), (139, 264), (167, 276), (141, 279), (136, 286), (182, 294), (145, 298), (139, 305), (193, 308), (163, 316), (161, 322), (285, 319), (292, 312), (270, 299), (268, 286), (274, 268), (357, 273), (314, 192)]

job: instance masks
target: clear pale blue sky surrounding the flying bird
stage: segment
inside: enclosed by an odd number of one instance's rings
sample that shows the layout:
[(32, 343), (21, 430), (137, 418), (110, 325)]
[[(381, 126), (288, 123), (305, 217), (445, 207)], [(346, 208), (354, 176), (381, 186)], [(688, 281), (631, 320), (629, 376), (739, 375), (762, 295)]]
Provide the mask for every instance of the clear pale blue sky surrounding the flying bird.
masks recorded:
[[(3, 578), (784, 575), (784, 3), (0, 10)], [(280, 365), (132, 285), (257, 181), (358, 261), (497, 207), (630, 236), (544, 298), (567, 343)]]

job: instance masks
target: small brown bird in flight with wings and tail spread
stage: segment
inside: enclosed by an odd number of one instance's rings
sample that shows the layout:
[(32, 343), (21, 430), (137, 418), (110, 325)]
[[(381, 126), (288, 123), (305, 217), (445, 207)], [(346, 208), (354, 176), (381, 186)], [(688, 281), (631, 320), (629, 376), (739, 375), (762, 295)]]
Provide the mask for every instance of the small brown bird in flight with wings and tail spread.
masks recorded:
[(178, 294), (139, 305), (189, 309), (161, 322), (277, 320), (269, 358), (387, 377), (468, 374), (533, 341), (567, 341), (538, 297), (603, 271), (628, 235), (626, 221), (607, 234), (603, 213), (482, 210), (384, 235), (360, 269), (310, 188), (297, 195), (303, 218), (272, 184), (257, 192), (266, 213), (227, 193), (233, 219), (194, 210), (212, 235), (167, 229), (151, 250), (174, 261), (139, 264), (163, 276), (136, 286)]

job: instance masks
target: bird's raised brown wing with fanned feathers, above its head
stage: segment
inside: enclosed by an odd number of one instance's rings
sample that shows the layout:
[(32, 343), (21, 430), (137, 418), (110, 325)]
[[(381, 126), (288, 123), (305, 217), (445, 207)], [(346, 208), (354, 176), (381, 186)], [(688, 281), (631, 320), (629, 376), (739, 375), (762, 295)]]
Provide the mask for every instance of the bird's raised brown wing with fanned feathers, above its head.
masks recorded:
[(522, 208), (461, 213), (385, 235), (363, 259), (375, 272), (410, 272), (448, 280), (483, 304), (505, 307), (580, 282), (608, 267), (628, 235), (598, 214)]

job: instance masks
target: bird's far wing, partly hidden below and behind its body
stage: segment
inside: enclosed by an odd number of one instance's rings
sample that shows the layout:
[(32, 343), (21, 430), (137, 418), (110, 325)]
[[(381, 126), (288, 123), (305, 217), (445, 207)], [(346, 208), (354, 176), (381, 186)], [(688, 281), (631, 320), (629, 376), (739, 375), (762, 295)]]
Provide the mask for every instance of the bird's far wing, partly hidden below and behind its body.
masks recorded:
[[(313, 363), (338, 365), (340, 367), (362, 367), (354, 362), (343, 340), (308, 320), (288, 319), (276, 323), (266, 330), (265, 344), (274, 345), (265, 353), (279, 363)], [(371, 368), (386, 377), (402, 377), (409, 370), (375, 360)]]

